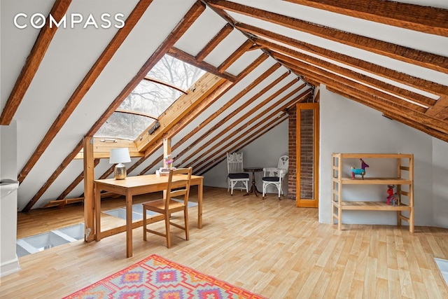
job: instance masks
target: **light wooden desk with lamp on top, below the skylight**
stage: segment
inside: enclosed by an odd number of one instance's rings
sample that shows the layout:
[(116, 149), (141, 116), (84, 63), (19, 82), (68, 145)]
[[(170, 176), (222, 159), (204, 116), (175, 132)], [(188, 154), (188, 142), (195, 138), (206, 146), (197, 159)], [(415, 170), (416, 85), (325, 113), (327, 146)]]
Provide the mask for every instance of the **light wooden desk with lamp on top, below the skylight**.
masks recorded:
[[(175, 181), (176, 176), (173, 177)], [(202, 189), (204, 176), (191, 176), (191, 186), (197, 188), (197, 228), (202, 228)], [(94, 181), (95, 199), (95, 240), (124, 232), (126, 230), (126, 256), (132, 256), (132, 229), (138, 228), (143, 221), (132, 223), (132, 196), (162, 191), (167, 188), (168, 176), (148, 174), (144, 176), (127, 176), (126, 179), (101, 179)], [(101, 190), (126, 196), (126, 225), (120, 228), (101, 231)]]

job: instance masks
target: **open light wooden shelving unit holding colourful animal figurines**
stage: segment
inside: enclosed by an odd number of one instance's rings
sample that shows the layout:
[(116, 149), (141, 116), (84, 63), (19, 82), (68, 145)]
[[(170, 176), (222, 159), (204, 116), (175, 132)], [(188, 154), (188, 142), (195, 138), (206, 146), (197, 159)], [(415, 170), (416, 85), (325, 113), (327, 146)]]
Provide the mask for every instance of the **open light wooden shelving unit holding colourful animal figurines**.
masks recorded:
[[(397, 176), (392, 178), (368, 177), (364, 179), (351, 178), (350, 174), (343, 174), (344, 159), (395, 159), (397, 162)], [(370, 160), (371, 161), (371, 160)], [(408, 166), (404, 166), (408, 165)], [(368, 171), (368, 170), (367, 170)], [(405, 176), (407, 173), (407, 176)], [(397, 225), (401, 221), (409, 223), (409, 232), (414, 232), (414, 155), (402, 153), (333, 153), (332, 154), (332, 221), (337, 221), (337, 228), (342, 230), (342, 211), (396, 211)], [(361, 201), (344, 200), (342, 188), (345, 185), (388, 185), (396, 186), (398, 202), (395, 206), (386, 203), (384, 199), (363, 199)], [(409, 186), (408, 190), (402, 190), (402, 185)], [(344, 187), (346, 188), (346, 187)], [(402, 198), (403, 197), (403, 198)], [(407, 200), (405, 200), (407, 198)], [(403, 203), (402, 199), (406, 202)], [(380, 201), (381, 200), (381, 201)], [(407, 211), (409, 216), (402, 214)]]

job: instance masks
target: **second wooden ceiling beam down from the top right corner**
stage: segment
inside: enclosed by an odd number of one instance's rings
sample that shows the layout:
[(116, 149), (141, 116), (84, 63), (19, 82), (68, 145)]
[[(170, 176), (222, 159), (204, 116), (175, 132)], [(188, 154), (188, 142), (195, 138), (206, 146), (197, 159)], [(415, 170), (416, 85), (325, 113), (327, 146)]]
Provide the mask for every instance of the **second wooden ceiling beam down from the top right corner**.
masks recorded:
[(290, 29), (313, 34), (323, 39), (336, 41), (337, 43), (343, 43), (347, 46), (359, 48), (368, 52), (391, 57), (395, 60), (408, 62), (410, 64), (415, 64), (420, 67), (426, 67), (428, 69), (433, 69), (435, 71), (440, 71), (442, 73), (448, 74), (448, 57), (435, 55), (433, 53), (415, 50), (404, 46), (399, 46), (393, 43), (388, 43), (386, 41), (371, 39), (369, 37), (360, 36), (358, 34), (343, 32), (341, 30), (332, 29), (295, 18), (290, 18), (285, 15), (279, 15), (278, 13), (263, 11), (251, 6), (244, 6), (231, 1), (207, 0), (207, 4), (216, 9), (247, 15), (252, 18), (258, 18), (260, 20), (271, 22), (276, 25), (281, 25)]

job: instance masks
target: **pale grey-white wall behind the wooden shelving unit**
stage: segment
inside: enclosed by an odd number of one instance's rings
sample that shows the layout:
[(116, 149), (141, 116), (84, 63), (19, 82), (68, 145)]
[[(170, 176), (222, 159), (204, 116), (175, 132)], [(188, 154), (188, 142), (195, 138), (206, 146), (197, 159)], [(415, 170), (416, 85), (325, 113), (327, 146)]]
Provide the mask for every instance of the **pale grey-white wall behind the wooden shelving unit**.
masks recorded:
[[(428, 134), (414, 130), (381, 116), (379, 111), (358, 104), (321, 88), (321, 160), (320, 160), (320, 209), (319, 221), (331, 223), (331, 154), (332, 153), (414, 153), (414, 216), (415, 225), (443, 225), (448, 211), (447, 204), (447, 144), (434, 141)], [(433, 150), (433, 144), (434, 150)], [(445, 158), (442, 167), (436, 169), (433, 155), (437, 160)], [(375, 159), (366, 160), (370, 167), (367, 174), (382, 172), (386, 166)], [(378, 165), (377, 165), (378, 164)], [(355, 165), (356, 166), (356, 165)], [(381, 169), (376, 169), (381, 167)], [(445, 176), (443, 178), (443, 174)], [(439, 176), (433, 180), (433, 176)], [(442, 181), (444, 180), (444, 181)], [(376, 193), (378, 199), (386, 199), (387, 187), (372, 191), (354, 192)], [(442, 188), (444, 189), (442, 189)], [(344, 188), (350, 188), (344, 186)], [(437, 197), (435, 195), (437, 194)], [(437, 215), (435, 215), (437, 209)], [(436, 219), (437, 218), (437, 219)], [(344, 211), (343, 223), (395, 224), (395, 213), (389, 211)], [(444, 223), (443, 223), (444, 221)]]

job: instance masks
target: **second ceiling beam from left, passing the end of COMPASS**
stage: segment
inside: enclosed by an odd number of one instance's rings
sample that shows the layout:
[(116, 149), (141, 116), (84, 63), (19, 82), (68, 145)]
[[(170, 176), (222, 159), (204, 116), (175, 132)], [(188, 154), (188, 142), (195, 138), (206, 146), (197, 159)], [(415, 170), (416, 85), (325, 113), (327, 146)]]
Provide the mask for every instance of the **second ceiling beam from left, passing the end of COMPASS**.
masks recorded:
[(103, 69), (112, 59), (118, 48), (120, 48), (123, 41), (125, 41), (126, 37), (130, 34), (132, 29), (140, 20), (141, 16), (145, 13), (146, 8), (148, 8), (152, 1), (153, 0), (139, 1), (137, 6), (135, 6), (134, 10), (127, 18), (125, 26), (118, 29), (116, 35), (113, 36), (111, 42), (106, 46), (103, 53), (98, 57), (97, 61), (90, 68), (90, 71), (88, 71), (88, 73), (85, 75), (83, 81), (80, 82), (75, 92), (73, 92), (73, 94), (71, 95), (69, 101), (66, 102), (64, 108), (61, 112), (59, 112), (59, 115), (52, 123), (50, 129), (45, 134), (45, 137), (43, 137), (37, 148), (34, 150), (34, 153), (25, 163), (25, 166), (22, 168), (18, 176), (18, 181), (20, 183), (22, 183), (22, 181), (29, 174), (34, 165), (36, 165), (36, 162), (39, 160), (39, 158), (41, 158), (41, 155), (45, 152), (45, 149), (50, 146), (51, 141), (62, 129), (62, 127), (66, 123), (66, 120), (69, 119), (71, 113), (73, 113), (73, 111), (76, 109), (76, 106), (78, 106), (85, 94), (87, 94), (87, 92), (90, 90), (90, 87), (93, 85), (94, 81), (97, 80)]

